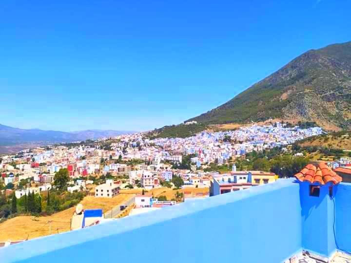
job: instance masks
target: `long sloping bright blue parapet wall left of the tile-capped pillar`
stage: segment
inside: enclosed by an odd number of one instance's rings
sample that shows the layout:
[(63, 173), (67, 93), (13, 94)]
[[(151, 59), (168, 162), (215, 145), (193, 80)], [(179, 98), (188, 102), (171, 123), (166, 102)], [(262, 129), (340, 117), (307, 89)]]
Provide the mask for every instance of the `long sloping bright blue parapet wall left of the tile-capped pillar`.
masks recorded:
[(274, 184), (0, 249), (3, 262), (282, 262), (301, 249), (299, 184)]

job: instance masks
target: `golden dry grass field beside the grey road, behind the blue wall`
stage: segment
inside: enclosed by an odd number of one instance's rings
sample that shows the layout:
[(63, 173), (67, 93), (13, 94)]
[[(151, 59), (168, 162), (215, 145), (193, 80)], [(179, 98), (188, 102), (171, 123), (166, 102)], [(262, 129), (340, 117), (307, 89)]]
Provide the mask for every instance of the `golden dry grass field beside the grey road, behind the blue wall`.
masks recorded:
[[(94, 196), (86, 196), (81, 204), (84, 209), (101, 208), (104, 212), (111, 210), (123, 204), (130, 198), (129, 194), (119, 194), (114, 198), (95, 198)], [(58, 212), (51, 216), (18, 216), (0, 224), (0, 241), (17, 241), (25, 239), (33, 239), (41, 236), (47, 236), (49, 232), (49, 223), (51, 223), (51, 233), (61, 233), (70, 230), (71, 218), (74, 207)]]

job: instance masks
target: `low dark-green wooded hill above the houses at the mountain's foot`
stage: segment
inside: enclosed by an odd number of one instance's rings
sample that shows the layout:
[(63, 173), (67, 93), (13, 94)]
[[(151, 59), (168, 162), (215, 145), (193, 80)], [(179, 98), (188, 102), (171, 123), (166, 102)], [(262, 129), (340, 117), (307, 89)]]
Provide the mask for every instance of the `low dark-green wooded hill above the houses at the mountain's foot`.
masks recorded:
[(165, 126), (160, 129), (150, 131), (146, 136), (150, 139), (155, 138), (186, 138), (195, 135), (198, 132), (204, 131), (208, 128), (205, 124), (179, 124)]

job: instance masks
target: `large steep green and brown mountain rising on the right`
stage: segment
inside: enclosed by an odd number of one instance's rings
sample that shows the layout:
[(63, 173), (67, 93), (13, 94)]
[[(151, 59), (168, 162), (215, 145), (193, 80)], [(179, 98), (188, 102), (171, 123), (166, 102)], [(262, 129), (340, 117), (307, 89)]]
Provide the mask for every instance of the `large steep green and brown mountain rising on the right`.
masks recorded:
[(270, 118), (351, 128), (351, 42), (310, 50), (225, 104), (188, 121), (247, 123)]

